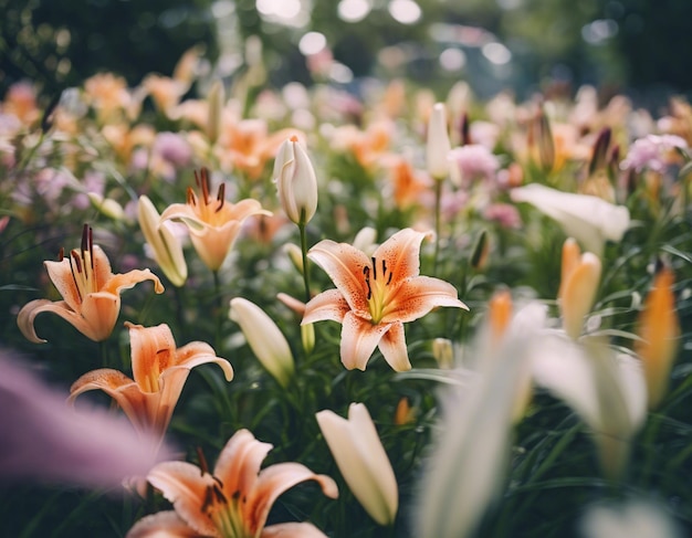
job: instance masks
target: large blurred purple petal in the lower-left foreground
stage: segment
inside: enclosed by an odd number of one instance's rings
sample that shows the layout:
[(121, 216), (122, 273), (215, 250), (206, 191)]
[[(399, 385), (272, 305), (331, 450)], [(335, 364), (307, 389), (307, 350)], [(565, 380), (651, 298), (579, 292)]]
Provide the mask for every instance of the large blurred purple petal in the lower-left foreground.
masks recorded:
[(65, 397), (0, 351), (0, 483), (35, 481), (118, 487), (144, 475), (167, 447), (101, 410), (75, 412)]

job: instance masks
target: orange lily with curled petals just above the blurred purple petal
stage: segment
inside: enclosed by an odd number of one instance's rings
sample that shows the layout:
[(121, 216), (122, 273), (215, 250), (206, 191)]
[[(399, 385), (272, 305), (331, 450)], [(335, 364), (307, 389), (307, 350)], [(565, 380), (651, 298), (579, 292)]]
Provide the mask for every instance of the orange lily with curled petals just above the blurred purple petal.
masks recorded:
[(158, 434), (161, 439), (180, 398), (190, 369), (207, 362), (221, 367), (227, 381), (233, 368), (202, 341), (176, 347), (166, 324), (156, 327), (125, 324), (129, 328), (134, 380), (118, 370), (101, 368), (85, 373), (70, 388), (70, 401), (88, 390), (103, 390), (123, 409), (139, 432)]

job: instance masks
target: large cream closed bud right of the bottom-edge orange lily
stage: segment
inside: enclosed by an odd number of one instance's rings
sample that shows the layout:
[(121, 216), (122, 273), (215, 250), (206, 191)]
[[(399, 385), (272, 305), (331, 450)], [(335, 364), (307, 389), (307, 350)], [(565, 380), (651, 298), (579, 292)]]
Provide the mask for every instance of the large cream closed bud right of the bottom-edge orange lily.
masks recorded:
[(352, 403), (348, 420), (329, 410), (315, 416), (354, 496), (378, 524), (391, 525), (399, 507), (397, 478), (367, 408)]

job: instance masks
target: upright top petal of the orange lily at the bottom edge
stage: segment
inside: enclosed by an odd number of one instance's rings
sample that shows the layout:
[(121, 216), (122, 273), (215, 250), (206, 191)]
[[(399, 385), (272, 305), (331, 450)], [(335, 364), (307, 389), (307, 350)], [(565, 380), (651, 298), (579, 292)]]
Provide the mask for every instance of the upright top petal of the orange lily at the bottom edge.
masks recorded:
[(258, 441), (248, 430), (239, 430), (229, 439), (214, 467), (214, 475), (223, 483), (228, 496), (237, 492), (248, 494), (254, 487), (262, 462), (271, 450), (271, 444)]

